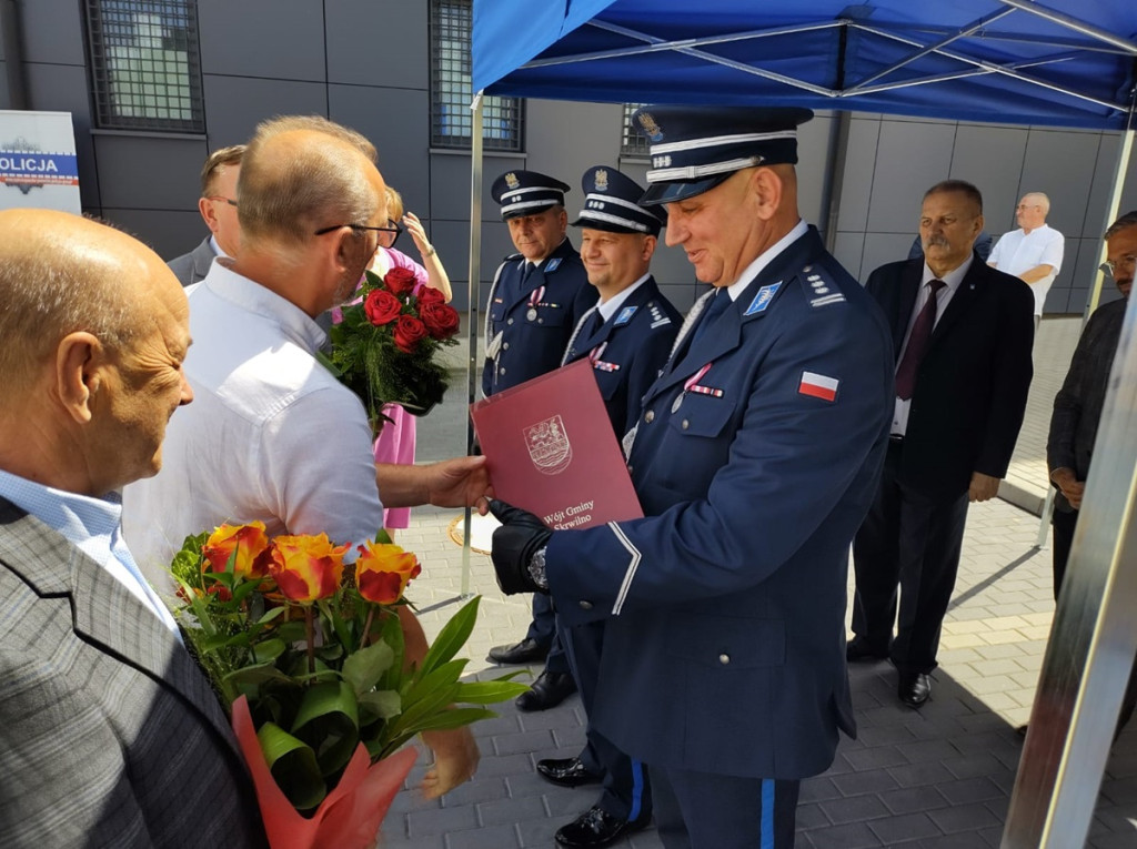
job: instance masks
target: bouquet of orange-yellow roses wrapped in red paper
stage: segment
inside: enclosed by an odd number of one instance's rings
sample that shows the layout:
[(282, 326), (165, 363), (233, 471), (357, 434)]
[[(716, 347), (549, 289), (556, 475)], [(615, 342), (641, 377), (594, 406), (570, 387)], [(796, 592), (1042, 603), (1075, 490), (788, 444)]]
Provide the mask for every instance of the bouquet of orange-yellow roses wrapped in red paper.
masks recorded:
[(370, 847), (415, 761), (422, 731), (496, 716), (484, 705), (526, 688), (462, 682), (455, 659), (478, 598), (404, 668), (395, 607), (417, 558), (380, 531), (358, 547), (326, 534), (268, 539), (265, 525), (189, 536), (171, 571), (191, 651), (230, 711), (273, 849)]

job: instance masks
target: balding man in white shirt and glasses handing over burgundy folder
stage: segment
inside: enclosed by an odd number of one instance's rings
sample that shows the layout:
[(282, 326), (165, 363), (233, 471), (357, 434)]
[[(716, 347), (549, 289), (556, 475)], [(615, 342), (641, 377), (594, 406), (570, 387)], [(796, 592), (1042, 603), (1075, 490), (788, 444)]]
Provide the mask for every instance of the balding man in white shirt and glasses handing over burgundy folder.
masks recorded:
[[(316, 317), (351, 296), (388, 227), (374, 160), (371, 142), (318, 117), (274, 118), (249, 142), (241, 250), (190, 292), (184, 368), (197, 403), (171, 424), (163, 473), (124, 493), (126, 539), (151, 583), (168, 589), (182, 540), (226, 521), (326, 532), (354, 550), (383, 526), (383, 501), (455, 507), (485, 492), (482, 457), (376, 468), (363, 405), (316, 360), (326, 339)], [(421, 659), (422, 626), (409, 608), (399, 615), (407, 658)], [(468, 730), (428, 743), (428, 796), (473, 774)]]

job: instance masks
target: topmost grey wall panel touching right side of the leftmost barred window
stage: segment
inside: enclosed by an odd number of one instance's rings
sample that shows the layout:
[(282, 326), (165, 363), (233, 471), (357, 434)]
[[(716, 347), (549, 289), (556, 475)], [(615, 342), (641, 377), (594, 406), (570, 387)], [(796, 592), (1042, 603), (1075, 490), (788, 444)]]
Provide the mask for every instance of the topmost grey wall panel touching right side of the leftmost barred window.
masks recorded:
[(204, 74), (324, 80), (324, 9), (319, 2), (198, 0)]

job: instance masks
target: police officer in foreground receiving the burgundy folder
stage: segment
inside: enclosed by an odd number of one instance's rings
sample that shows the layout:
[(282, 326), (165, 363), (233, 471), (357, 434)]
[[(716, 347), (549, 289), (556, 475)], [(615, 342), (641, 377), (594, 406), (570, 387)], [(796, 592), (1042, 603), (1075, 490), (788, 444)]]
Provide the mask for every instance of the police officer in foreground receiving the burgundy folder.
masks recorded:
[(800, 780), (854, 733), (848, 549), (880, 476), (891, 340), (797, 213), (805, 109), (658, 107), (641, 203), (714, 289), (628, 452), (645, 518), (549, 531), (493, 502), (506, 592), (605, 621), (592, 726), (649, 765), (664, 846), (794, 844)]

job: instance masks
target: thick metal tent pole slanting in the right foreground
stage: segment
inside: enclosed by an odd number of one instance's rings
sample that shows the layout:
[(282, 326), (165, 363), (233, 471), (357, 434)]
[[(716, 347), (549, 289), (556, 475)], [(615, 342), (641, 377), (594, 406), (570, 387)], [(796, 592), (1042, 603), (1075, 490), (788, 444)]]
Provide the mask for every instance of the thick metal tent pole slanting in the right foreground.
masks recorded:
[(1039, 673), (1003, 849), (1082, 846), (1137, 652), (1137, 299), (1110, 375), (1097, 457)]

